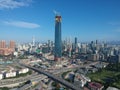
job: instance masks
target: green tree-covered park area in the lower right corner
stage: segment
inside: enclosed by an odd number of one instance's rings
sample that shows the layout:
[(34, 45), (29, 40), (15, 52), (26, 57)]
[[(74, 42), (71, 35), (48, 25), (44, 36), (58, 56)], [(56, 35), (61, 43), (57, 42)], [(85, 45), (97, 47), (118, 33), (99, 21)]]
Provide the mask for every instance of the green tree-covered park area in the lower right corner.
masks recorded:
[(96, 73), (90, 73), (88, 76), (92, 81), (102, 83), (105, 88), (108, 86), (120, 88), (120, 63), (109, 64), (106, 68), (99, 69)]

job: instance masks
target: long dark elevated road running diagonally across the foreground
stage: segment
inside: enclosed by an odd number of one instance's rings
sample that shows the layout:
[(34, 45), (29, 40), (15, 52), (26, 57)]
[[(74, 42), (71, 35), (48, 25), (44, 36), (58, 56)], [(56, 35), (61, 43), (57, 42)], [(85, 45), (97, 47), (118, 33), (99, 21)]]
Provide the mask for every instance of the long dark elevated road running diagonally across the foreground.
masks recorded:
[(72, 89), (72, 90), (81, 90), (81, 88), (78, 88), (78, 87), (74, 86), (72, 83), (69, 83), (69, 82), (65, 81), (64, 79), (62, 79), (60, 77), (57, 77), (57, 76), (55, 76), (55, 75), (53, 75), (53, 74), (51, 74), (49, 72), (46, 72), (46, 71), (44, 71), (42, 69), (31, 67), (29, 65), (25, 65), (25, 64), (22, 64), (22, 63), (20, 63), (20, 65), (28, 67), (29, 69), (32, 69), (32, 70), (34, 70), (36, 72), (39, 72), (41, 74), (44, 74), (44, 75), (48, 76), (49, 78), (51, 78), (52, 80), (59, 82), (60, 84), (66, 86), (69, 89)]

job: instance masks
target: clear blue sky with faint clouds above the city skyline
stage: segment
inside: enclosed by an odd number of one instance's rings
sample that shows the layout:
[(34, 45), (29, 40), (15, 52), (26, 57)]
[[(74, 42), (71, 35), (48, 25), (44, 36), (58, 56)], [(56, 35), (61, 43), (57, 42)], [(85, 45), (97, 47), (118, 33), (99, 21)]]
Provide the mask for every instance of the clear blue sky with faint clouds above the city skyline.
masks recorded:
[(0, 40), (54, 40), (54, 11), (62, 39), (120, 40), (120, 0), (0, 0)]

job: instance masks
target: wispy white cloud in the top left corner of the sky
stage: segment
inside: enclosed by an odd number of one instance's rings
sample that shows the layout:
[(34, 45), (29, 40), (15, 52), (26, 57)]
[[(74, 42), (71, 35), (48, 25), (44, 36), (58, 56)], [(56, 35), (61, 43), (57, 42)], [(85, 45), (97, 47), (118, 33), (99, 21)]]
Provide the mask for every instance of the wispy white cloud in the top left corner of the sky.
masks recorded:
[(14, 9), (28, 6), (32, 0), (0, 0), (0, 9)]

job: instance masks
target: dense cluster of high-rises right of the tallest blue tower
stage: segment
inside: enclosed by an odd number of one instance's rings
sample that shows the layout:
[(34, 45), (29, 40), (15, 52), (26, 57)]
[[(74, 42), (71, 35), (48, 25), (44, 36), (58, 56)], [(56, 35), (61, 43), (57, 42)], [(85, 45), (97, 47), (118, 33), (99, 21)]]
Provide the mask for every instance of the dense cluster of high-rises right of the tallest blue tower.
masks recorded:
[(120, 62), (120, 46), (98, 42), (98, 40), (91, 41), (91, 43), (77, 43), (77, 38), (74, 43), (65, 40), (63, 52), (69, 57), (83, 60)]

